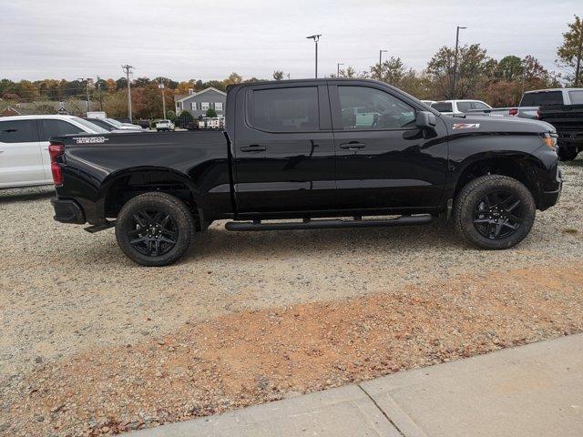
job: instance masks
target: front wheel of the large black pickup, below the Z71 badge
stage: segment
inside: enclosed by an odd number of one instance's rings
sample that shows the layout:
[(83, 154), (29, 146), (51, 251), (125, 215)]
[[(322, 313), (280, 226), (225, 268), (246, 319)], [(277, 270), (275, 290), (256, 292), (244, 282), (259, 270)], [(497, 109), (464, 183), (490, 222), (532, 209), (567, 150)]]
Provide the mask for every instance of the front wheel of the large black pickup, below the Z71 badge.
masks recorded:
[(532, 194), (517, 179), (483, 176), (455, 198), (455, 228), (478, 248), (508, 249), (527, 237), (536, 208)]

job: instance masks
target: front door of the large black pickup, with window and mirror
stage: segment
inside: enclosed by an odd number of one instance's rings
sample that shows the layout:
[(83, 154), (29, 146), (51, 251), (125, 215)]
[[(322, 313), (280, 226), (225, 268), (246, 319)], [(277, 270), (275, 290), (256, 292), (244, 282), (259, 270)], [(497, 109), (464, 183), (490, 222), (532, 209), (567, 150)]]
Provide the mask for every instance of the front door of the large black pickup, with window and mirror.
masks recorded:
[(388, 87), (330, 84), (339, 208), (435, 207), (447, 169), (443, 122), (424, 138), (415, 107)]

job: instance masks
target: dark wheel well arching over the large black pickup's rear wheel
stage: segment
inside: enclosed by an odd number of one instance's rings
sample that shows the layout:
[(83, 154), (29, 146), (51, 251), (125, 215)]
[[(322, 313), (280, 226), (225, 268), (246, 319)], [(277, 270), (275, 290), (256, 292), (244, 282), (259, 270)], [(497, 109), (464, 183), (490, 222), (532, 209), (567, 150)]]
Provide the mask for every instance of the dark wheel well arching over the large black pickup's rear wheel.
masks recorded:
[(168, 193), (186, 203), (195, 218), (197, 230), (199, 230), (199, 209), (192, 190), (179, 176), (164, 170), (138, 171), (117, 178), (107, 189), (106, 217), (118, 217), (119, 210), (128, 200), (152, 191)]

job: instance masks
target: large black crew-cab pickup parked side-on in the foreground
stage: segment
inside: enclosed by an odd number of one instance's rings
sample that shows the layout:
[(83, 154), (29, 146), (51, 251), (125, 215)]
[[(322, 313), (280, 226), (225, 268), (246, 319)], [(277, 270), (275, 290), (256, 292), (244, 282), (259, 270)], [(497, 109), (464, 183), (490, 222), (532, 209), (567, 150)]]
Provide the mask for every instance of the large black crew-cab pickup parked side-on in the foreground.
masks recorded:
[(475, 246), (506, 249), (561, 191), (552, 126), (446, 117), (380, 82), (241, 84), (226, 109), (224, 132), (52, 138), (55, 219), (115, 226), (119, 247), (147, 266), (179, 259), (217, 219), (280, 230), (453, 215)]

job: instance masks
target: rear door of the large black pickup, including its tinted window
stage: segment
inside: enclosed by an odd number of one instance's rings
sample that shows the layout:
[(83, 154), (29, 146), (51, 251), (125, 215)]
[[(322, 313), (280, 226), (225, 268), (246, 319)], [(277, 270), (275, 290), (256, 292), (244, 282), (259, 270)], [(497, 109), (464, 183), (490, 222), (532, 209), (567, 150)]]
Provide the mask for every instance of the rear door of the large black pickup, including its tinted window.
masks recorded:
[(335, 206), (335, 154), (324, 82), (249, 86), (237, 95), (235, 196), (240, 213)]

